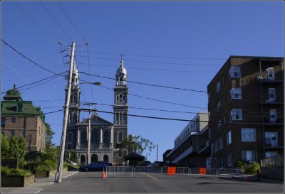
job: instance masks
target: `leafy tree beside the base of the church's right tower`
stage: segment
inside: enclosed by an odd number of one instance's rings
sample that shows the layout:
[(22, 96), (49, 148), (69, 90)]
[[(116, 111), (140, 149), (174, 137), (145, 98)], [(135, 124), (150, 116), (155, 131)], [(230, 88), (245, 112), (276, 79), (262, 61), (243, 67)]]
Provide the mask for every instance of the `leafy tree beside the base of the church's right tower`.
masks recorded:
[(150, 140), (144, 139), (142, 136), (133, 136), (130, 139), (124, 138), (120, 144), (117, 144), (117, 148), (120, 149), (120, 151), (128, 151), (128, 153), (136, 152), (141, 154), (146, 149), (151, 151), (153, 146)]

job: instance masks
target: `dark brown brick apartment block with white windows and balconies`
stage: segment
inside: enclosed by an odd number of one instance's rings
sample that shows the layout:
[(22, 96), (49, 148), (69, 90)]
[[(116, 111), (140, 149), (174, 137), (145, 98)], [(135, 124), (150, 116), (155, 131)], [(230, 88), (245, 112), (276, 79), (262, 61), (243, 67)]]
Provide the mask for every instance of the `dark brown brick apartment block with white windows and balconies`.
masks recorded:
[(207, 90), (212, 168), (284, 154), (284, 58), (230, 56)]

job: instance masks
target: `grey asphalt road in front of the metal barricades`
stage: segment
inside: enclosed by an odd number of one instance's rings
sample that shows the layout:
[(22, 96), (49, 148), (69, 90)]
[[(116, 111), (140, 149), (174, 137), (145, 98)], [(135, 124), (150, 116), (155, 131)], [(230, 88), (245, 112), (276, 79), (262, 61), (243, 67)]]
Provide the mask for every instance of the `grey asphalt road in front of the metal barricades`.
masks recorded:
[(41, 193), (284, 193), (284, 184), (201, 176), (160, 178), (147, 173), (103, 179), (102, 172), (79, 172), (62, 183), (46, 186)]

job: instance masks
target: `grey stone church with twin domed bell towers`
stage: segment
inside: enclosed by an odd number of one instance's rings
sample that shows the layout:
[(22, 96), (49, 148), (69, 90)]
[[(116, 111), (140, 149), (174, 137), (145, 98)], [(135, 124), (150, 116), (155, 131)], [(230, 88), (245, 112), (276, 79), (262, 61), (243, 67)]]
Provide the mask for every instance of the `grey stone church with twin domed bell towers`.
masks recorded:
[[(88, 119), (79, 120), (80, 88), (79, 74), (74, 65), (71, 87), (71, 99), (66, 131), (66, 155), (75, 151), (78, 164), (96, 161), (123, 163), (125, 153), (117, 149), (124, 138), (128, 137), (128, 85), (127, 70), (123, 59), (116, 71), (114, 87), (113, 123), (91, 112)], [(66, 88), (67, 96), (67, 88)], [(90, 122), (90, 129), (89, 127)]]

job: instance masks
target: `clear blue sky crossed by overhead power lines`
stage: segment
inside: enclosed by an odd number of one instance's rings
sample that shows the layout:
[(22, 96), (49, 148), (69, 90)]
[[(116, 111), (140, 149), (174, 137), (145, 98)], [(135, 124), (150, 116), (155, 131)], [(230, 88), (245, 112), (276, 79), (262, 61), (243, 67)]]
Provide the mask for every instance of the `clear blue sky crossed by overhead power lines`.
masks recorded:
[[(281, 1), (217, 2), (64, 2), (60, 4), (83, 37), (76, 31), (58, 4), (43, 2), (66, 33), (53, 21), (40, 2), (1, 2), (1, 38), (26, 57), (53, 72), (68, 69), (58, 41), (76, 42), (78, 70), (115, 77), (123, 53), (128, 80), (154, 85), (207, 90), (207, 84), (229, 55), (284, 56), (284, 3)], [(32, 20), (31, 20), (32, 18)], [(35, 24), (34, 22), (38, 23)], [(66, 35), (68, 34), (68, 35)], [(71, 36), (71, 38), (68, 38)], [(89, 45), (84, 45), (88, 41)], [(89, 52), (88, 52), (89, 51)], [(67, 53), (63, 52), (63, 55)], [(88, 58), (89, 55), (89, 58)], [(89, 59), (89, 60), (88, 60)], [(89, 65), (88, 65), (89, 63)], [(1, 92), (52, 76), (1, 43)], [(113, 88), (114, 80), (89, 77)], [(24, 100), (41, 106), (43, 112), (62, 109), (66, 80), (53, 77), (48, 82), (20, 90)], [(181, 106), (129, 96), (130, 107), (166, 109), (180, 112), (207, 112), (207, 94), (170, 90), (129, 83), (129, 92), (152, 99), (185, 104)], [(3, 97), (3, 95), (2, 95)], [(81, 101), (96, 102), (98, 110), (113, 112), (113, 91), (81, 85)], [(194, 108), (190, 106), (201, 107)], [(84, 105), (82, 108), (86, 107)], [(86, 107), (87, 108), (87, 107)], [(129, 109), (129, 114), (192, 119), (195, 114)], [(113, 114), (99, 113), (113, 122)], [(87, 118), (81, 114), (81, 119)], [(59, 144), (63, 113), (46, 114), (46, 122), (56, 131)], [(187, 122), (129, 117), (128, 132), (159, 145), (159, 160)], [(147, 151), (144, 153), (150, 153)], [(156, 149), (147, 156), (156, 160)]]

